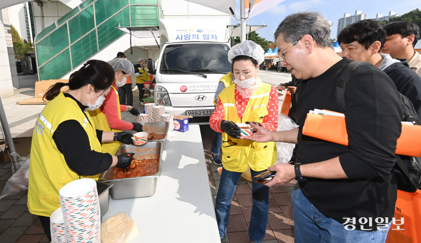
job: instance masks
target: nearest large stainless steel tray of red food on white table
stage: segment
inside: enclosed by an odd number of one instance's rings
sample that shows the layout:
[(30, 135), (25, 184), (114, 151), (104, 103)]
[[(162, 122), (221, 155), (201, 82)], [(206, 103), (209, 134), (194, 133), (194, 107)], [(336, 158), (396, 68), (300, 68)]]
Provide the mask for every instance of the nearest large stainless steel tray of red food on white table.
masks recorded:
[(162, 141), (148, 141), (141, 146), (123, 144), (116, 155), (122, 153), (135, 153), (135, 159), (158, 159), (158, 173), (151, 176), (130, 177), (121, 179), (109, 179), (109, 172), (114, 168), (108, 169), (100, 178), (100, 181), (113, 184), (110, 188), (112, 199), (126, 199), (138, 197), (150, 197), (155, 194), (157, 180), (161, 175), (162, 168)]

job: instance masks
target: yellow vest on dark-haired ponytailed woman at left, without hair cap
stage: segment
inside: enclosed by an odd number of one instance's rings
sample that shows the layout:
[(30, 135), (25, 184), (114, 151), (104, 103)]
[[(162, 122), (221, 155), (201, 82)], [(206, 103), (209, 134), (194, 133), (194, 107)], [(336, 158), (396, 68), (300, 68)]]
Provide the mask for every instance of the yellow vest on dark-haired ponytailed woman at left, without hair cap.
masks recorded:
[(85, 114), (73, 99), (66, 98), (60, 92), (47, 103), (36, 119), (32, 134), (28, 189), (28, 208), (32, 214), (50, 217), (54, 210), (60, 208), (59, 191), (64, 185), (79, 178), (98, 180), (100, 177), (79, 176), (72, 171), (52, 138), (62, 122), (76, 120), (88, 135), (90, 149), (102, 152), (95, 125), (89, 114)]

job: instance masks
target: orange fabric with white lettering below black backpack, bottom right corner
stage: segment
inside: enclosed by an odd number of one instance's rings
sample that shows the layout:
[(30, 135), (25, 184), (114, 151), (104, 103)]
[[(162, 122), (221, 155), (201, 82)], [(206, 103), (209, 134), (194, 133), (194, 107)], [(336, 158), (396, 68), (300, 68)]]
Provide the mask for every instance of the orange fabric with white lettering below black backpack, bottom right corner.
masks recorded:
[[(396, 226), (392, 221), (386, 243), (421, 243), (421, 190), (414, 193), (397, 190), (394, 218), (404, 218), (404, 222), (403, 225)], [(397, 230), (397, 227), (404, 230)]]

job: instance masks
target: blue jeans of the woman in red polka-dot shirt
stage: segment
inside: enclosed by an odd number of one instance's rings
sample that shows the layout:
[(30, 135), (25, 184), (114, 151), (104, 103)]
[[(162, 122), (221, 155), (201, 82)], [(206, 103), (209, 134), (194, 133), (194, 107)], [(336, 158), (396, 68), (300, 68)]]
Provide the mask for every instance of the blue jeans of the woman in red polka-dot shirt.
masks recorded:
[[(252, 177), (262, 173), (251, 170)], [(215, 202), (216, 221), (219, 236), (224, 238), (228, 227), (231, 201), (242, 173), (222, 169), (221, 181)], [(253, 208), (248, 236), (253, 242), (261, 242), (266, 234), (267, 218), (269, 217), (269, 187), (253, 182)]]

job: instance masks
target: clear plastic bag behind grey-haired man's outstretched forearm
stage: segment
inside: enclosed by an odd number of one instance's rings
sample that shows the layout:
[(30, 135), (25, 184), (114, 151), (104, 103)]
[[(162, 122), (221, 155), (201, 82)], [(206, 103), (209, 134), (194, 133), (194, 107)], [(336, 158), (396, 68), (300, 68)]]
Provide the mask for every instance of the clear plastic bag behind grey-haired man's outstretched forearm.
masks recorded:
[[(278, 117), (278, 128), (277, 131), (285, 131), (285, 130), (291, 130), (298, 127), (297, 124), (291, 118), (288, 116), (285, 116), (284, 114), (279, 114)], [(294, 150), (295, 144), (293, 143), (281, 143), (276, 142), (276, 154), (277, 154), (277, 160), (276, 163), (288, 163), (292, 156), (292, 151)]]

